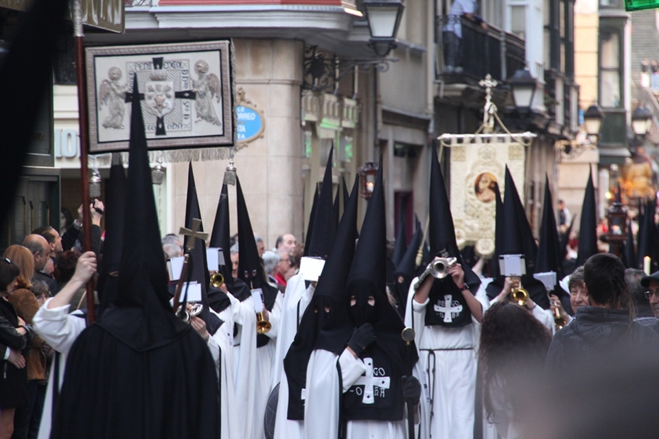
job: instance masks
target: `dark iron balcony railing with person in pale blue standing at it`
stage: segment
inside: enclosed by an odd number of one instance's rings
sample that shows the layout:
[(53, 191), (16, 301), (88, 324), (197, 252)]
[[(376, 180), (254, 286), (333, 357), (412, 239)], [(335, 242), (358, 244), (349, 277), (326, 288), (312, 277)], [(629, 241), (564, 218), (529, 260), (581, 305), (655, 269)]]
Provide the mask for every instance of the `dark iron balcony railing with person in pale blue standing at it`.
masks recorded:
[(507, 80), (525, 66), (524, 38), (488, 25), (487, 29), (457, 16), (437, 17), (436, 75), (445, 82), (473, 82), (489, 73)]

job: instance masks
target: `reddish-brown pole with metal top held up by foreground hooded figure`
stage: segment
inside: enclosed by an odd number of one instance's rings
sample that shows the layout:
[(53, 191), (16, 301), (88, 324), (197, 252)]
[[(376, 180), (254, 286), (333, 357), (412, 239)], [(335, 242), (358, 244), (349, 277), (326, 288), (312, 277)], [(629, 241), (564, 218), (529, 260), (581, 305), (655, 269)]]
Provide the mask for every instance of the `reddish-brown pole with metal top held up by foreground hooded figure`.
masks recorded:
[[(82, 244), (85, 251), (91, 248), (91, 211), (89, 209), (89, 168), (87, 167), (87, 148), (89, 147), (89, 123), (87, 120), (87, 94), (84, 79), (84, 34), (82, 33), (82, 4), (73, 1), (73, 40), (76, 48), (76, 82), (78, 84), (78, 121), (80, 131), (80, 182), (82, 191)], [(87, 324), (95, 320), (94, 281), (89, 279), (86, 285)]]

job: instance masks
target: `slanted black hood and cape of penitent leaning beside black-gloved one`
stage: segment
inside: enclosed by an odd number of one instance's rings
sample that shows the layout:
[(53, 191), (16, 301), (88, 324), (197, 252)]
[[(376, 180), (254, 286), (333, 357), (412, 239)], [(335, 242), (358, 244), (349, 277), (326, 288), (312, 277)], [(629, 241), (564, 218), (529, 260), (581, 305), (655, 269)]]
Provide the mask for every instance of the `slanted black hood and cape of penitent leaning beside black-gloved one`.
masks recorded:
[(304, 418), (301, 396), (312, 351), (324, 349), (340, 355), (352, 335), (345, 283), (355, 253), (358, 194), (359, 179), (356, 178), (314, 296), (302, 315), (295, 339), (284, 358), (288, 379), (288, 419)]

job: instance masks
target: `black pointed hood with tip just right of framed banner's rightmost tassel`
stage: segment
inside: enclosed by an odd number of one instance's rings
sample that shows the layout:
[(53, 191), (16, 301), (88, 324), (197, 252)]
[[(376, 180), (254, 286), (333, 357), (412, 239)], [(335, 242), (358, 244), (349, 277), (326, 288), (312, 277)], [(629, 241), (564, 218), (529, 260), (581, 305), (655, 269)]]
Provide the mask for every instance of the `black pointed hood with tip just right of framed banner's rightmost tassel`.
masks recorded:
[(240, 178), (236, 178), (235, 193), (238, 206), (238, 278), (250, 289), (263, 286), (263, 268), (249, 220)]

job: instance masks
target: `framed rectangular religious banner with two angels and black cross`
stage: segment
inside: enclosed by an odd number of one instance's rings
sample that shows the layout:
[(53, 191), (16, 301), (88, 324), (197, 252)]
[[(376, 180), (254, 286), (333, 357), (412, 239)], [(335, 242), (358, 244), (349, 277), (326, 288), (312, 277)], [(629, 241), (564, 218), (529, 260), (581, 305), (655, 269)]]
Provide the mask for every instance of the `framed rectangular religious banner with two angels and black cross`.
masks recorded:
[(127, 151), (137, 77), (150, 150), (231, 146), (231, 40), (88, 47), (89, 152)]

